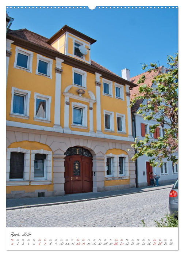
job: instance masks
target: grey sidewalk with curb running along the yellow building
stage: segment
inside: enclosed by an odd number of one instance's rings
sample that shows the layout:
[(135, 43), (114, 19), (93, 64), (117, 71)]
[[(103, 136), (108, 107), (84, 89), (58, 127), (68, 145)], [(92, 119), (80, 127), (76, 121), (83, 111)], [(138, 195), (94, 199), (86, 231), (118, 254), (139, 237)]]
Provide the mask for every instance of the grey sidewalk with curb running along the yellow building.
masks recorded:
[[(154, 191), (158, 189), (172, 188), (173, 183), (167, 183), (159, 185), (158, 187), (141, 187), (141, 188), (129, 188), (115, 191), (103, 191), (103, 192), (90, 192), (90, 193), (78, 193), (64, 196), (51, 196), (51, 197), (34, 197), (34, 198), (20, 198), (20, 199), (7, 199), (7, 210), (15, 210), (28, 207), (49, 206), (56, 204), (66, 204), (75, 202), (84, 202), (89, 200), (102, 199), (114, 196), (123, 196), (133, 193), (142, 193), (147, 191)], [(169, 196), (169, 195), (168, 195)]]

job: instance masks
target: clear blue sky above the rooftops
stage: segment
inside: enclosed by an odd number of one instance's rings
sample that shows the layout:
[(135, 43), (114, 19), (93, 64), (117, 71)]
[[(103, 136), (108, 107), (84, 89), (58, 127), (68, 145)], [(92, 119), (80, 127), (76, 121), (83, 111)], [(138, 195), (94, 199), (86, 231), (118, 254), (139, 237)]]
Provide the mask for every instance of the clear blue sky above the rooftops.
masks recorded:
[[(130, 69), (130, 76), (141, 74), (142, 64), (159, 62), (166, 65), (167, 55), (178, 50), (178, 9), (174, 8), (111, 8), (90, 10), (73, 8), (19, 9), (8, 6), (14, 18), (11, 29), (26, 28), (50, 38), (65, 24), (97, 40), (91, 46), (91, 59), (121, 76), (121, 69)], [(13, 7), (16, 8), (13, 8)]]

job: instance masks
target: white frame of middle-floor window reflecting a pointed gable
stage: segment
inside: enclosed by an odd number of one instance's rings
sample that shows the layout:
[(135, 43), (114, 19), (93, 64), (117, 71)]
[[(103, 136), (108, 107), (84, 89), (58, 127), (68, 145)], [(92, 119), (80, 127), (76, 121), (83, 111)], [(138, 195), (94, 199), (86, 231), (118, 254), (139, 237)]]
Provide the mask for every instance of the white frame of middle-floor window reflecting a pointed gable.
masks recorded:
[[(45, 118), (36, 117), (37, 99), (43, 99), (46, 101)], [(50, 123), (51, 122), (50, 121), (50, 105), (51, 105), (51, 96), (34, 93), (34, 120), (45, 122), (45, 123)]]

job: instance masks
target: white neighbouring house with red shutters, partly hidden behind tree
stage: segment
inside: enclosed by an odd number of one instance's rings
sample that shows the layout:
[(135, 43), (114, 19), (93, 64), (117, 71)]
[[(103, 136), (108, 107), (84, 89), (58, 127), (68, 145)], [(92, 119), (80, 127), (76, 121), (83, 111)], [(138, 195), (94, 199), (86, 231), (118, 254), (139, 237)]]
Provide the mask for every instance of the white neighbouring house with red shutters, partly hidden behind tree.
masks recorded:
[[(154, 74), (151, 72), (145, 72), (143, 74), (137, 75), (133, 78), (131, 78), (131, 82), (137, 83), (138, 79), (145, 75), (146, 79), (144, 84), (147, 84), (148, 86), (156, 86), (152, 83), (152, 79)], [(133, 99), (135, 97), (135, 94), (139, 94), (138, 87), (134, 87), (133, 90), (130, 91), (130, 99)], [(156, 120), (144, 120), (141, 114), (137, 114), (137, 111), (139, 110), (140, 104), (147, 104), (146, 99), (139, 99), (137, 102), (135, 102), (134, 106), (131, 108), (132, 113), (132, 127), (133, 127), (133, 136), (134, 138), (139, 138), (140, 140), (143, 140), (145, 137), (145, 134), (149, 134), (149, 136), (153, 139), (158, 139), (158, 137), (164, 136), (164, 131), (166, 128), (169, 128), (168, 125), (164, 124), (164, 127), (157, 127), (155, 133), (151, 133), (149, 131), (150, 125), (156, 124)], [(177, 155), (177, 152), (176, 152)], [(172, 161), (167, 161), (166, 159), (163, 160), (164, 165), (162, 167), (152, 167), (150, 166), (150, 158), (146, 155), (142, 155), (141, 157), (138, 157), (136, 161), (136, 183), (138, 187), (144, 187), (147, 185), (150, 185), (150, 172), (155, 172), (160, 175), (160, 178), (158, 180), (159, 184), (165, 184), (167, 182), (175, 182), (178, 177), (178, 168), (177, 164), (173, 165)]]

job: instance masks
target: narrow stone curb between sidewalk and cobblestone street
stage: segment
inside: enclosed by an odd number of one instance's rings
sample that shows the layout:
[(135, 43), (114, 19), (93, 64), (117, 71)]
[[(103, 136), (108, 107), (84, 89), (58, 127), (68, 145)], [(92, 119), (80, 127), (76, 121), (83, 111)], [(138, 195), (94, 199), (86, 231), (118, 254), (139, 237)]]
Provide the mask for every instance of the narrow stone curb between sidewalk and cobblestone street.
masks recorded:
[[(173, 185), (170, 185), (170, 187), (167, 187), (167, 188), (172, 188), (172, 186)], [(27, 205), (27, 206), (7, 207), (6, 211), (17, 210), (17, 209), (25, 209), (25, 208), (33, 208), (33, 207), (41, 207), (41, 206), (53, 206), (53, 205), (59, 205), (59, 204), (79, 203), (79, 202), (86, 202), (86, 201), (92, 201), (92, 200), (98, 200), (98, 199), (106, 199), (106, 198), (109, 198), (109, 197), (124, 196), (124, 195), (131, 195), (131, 194), (137, 194), (137, 193), (144, 193), (144, 192), (161, 190), (161, 189), (166, 189), (166, 188), (155, 188), (155, 189), (150, 189), (150, 190), (147, 190), (147, 191), (129, 192), (129, 193), (124, 193), (124, 194), (119, 194), (119, 195), (94, 197), (94, 198), (89, 198), (89, 199), (79, 199), (79, 200), (72, 200), (72, 201), (65, 201), (65, 202), (45, 203), (45, 204), (30, 204), (30, 205)]]

